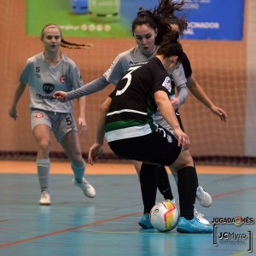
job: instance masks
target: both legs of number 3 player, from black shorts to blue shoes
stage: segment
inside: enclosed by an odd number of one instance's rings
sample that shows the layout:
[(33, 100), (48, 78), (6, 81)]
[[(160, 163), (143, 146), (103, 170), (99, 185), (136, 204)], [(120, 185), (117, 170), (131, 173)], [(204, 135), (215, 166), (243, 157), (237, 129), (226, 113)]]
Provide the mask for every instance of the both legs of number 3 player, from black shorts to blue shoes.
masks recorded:
[[(159, 127), (156, 131), (143, 137), (134, 137), (125, 141), (114, 141), (108, 143), (113, 152), (121, 157), (150, 160), (152, 163), (158, 163), (162, 166), (173, 164), (173, 168), (180, 172), (180, 181), (178, 182), (178, 192), (180, 193), (181, 219), (186, 222), (179, 225), (180, 231), (187, 232), (212, 232), (212, 227), (201, 224), (194, 218), (195, 193), (197, 188), (197, 175), (193, 165), (193, 159), (188, 151), (182, 151), (177, 146), (177, 139), (169, 131)], [(134, 148), (136, 145), (136, 148)], [(146, 149), (146, 150), (145, 150)], [(185, 154), (185, 153), (186, 154)], [(144, 214), (149, 213), (154, 206), (157, 169), (153, 165), (143, 165), (140, 181), (143, 194)], [(143, 169), (145, 167), (145, 170)], [(149, 168), (150, 169), (149, 171)], [(148, 172), (147, 172), (148, 171)], [(182, 188), (185, 188), (182, 190)], [(144, 216), (143, 216), (144, 217)], [(149, 214), (147, 220), (149, 221)], [(141, 219), (141, 221), (143, 218)], [(151, 226), (146, 222), (146, 228)], [(188, 224), (187, 224), (188, 223)], [(187, 227), (189, 225), (189, 227)], [(141, 226), (143, 226), (141, 224)], [(144, 226), (143, 226), (144, 227)], [(185, 228), (187, 230), (185, 230)]]

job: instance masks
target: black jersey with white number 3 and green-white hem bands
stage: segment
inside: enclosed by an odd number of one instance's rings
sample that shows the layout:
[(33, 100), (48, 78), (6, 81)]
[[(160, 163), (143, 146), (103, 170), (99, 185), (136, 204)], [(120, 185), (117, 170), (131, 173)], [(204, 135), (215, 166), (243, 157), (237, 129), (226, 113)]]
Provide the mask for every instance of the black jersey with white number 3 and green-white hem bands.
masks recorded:
[(105, 128), (108, 143), (156, 130), (154, 92), (157, 90), (166, 91), (168, 96), (172, 90), (171, 79), (158, 58), (128, 69), (111, 94)]

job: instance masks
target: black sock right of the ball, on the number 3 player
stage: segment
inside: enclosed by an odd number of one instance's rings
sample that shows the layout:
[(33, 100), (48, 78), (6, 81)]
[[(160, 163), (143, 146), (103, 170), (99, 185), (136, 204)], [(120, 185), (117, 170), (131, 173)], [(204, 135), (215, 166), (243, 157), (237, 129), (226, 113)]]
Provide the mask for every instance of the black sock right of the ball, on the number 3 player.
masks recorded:
[(188, 166), (177, 172), (177, 191), (179, 195), (180, 216), (194, 218), (194, 205), (198, 179), (195, 168)]

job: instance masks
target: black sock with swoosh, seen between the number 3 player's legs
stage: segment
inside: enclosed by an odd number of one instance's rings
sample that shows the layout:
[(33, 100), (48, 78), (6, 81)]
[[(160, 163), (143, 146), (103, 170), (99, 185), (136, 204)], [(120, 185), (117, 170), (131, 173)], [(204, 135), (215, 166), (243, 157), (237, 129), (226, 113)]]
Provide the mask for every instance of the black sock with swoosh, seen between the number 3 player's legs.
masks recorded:
[(168, 173), (165, 166), (158, 166), (158, 182), (157, 187), (160, 193), (164, 196), (165, 199), (173, 199), (172, 189), (169, 182)]

